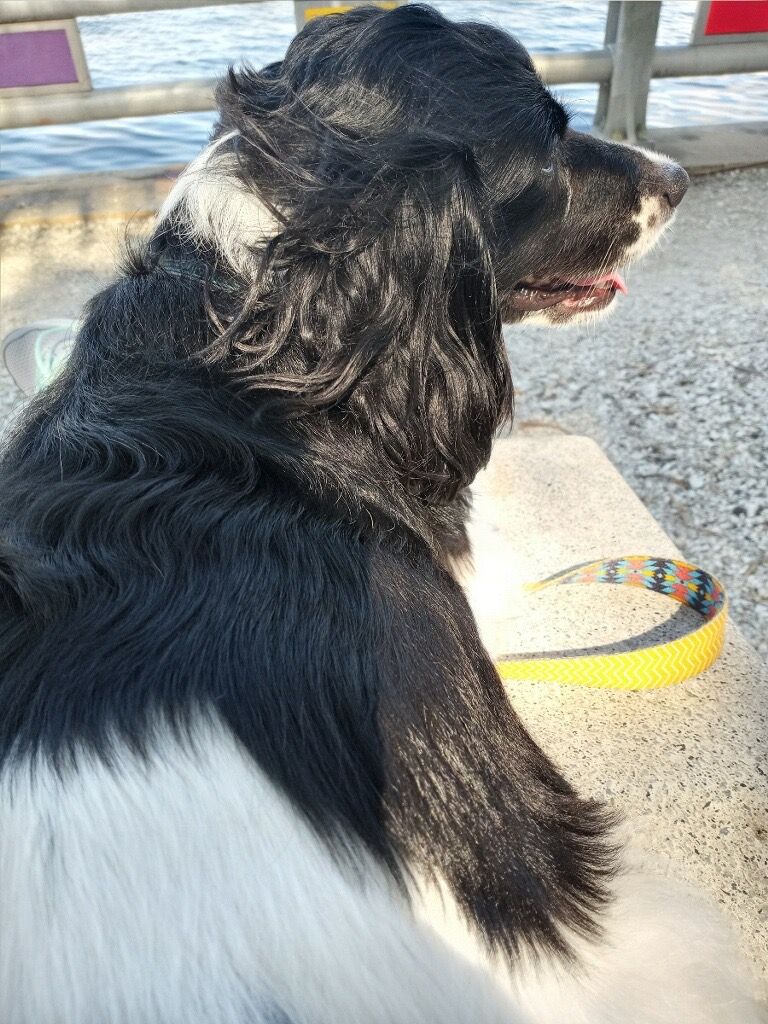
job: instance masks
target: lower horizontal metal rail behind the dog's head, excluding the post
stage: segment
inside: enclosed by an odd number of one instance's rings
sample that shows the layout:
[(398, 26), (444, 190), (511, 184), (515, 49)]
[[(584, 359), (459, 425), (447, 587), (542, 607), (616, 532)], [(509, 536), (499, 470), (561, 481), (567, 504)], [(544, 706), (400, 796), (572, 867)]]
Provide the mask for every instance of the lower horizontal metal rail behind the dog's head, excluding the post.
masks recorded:
[[(111, 6), (117, 0), (108, 0)], [(137, 0), (130, 0), (136, 3)], [(140, 2), (140, 0), (139, 0)], [(168, 5), (169, 0), (157, 0)], [(253, 0), (252, 0), (253, 2)], [(260, 2), (260, 0), (256, 0)], [(550, 85), (604, 82), (613, 70), (610, 50), (534, 54), (536, 66)], [(653, 56), (653, 78), (690, 75), (729, 75), (768, 71), (765, 43), (721, 43), (719, 46), (660, 46)], [(13, 96), (0, 99), (0, 128), (71, 124), (113, 118), (150, 117), (213, 110), (215, 79), (188, 79), (151, 85), (94, 89), (84, 93)]]

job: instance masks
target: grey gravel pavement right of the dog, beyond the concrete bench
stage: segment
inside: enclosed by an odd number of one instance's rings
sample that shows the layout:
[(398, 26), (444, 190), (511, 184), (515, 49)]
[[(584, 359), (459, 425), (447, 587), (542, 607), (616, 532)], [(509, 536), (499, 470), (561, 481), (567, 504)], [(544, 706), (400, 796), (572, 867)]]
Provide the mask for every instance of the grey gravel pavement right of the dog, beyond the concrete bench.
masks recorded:
[(627, 282), (598, 324), (507, 331), (517, 422), (594, 438), (768, 657), (768, 168), (694, 178)]

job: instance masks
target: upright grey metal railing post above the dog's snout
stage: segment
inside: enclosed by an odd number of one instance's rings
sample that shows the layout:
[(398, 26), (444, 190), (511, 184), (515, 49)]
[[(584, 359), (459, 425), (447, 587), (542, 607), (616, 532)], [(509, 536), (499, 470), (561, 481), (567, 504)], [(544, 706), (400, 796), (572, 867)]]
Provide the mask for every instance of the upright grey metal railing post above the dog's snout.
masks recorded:
[(594, 124), (599, 135), (636, 142), (644, 132), (660, 13), (656, 0), (608, 4), (605, 45), (613, 53), (613, 74), (600, 86)]

